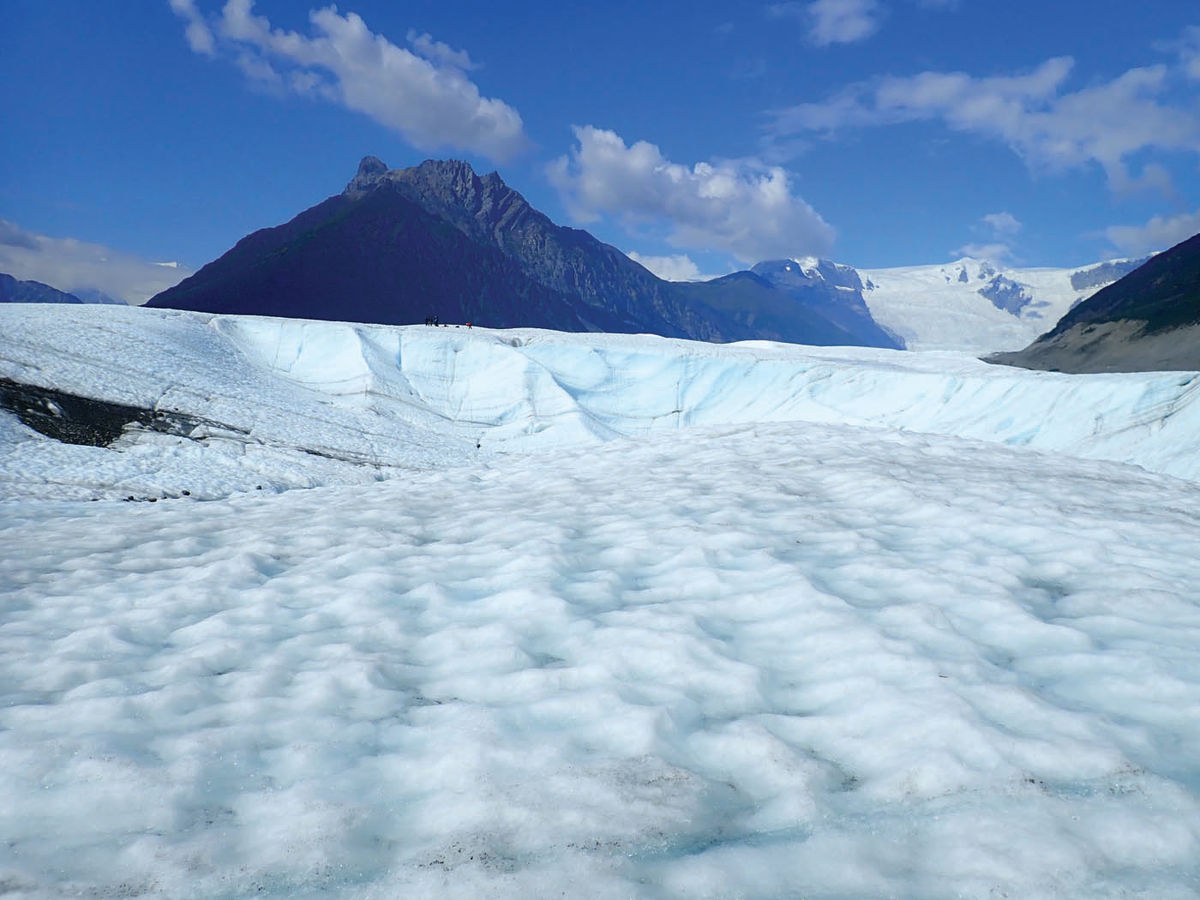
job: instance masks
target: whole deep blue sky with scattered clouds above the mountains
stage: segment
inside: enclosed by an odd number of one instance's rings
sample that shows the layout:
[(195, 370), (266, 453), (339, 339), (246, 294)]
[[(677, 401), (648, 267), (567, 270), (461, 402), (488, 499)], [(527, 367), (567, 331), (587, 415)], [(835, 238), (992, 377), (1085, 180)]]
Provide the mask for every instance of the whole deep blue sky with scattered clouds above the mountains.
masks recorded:
[(593, 6), (0, 0), (0, 244), (196, 268), (366, 154), (496, 168), (677, 274), (1200, 232), (1192, 0)]

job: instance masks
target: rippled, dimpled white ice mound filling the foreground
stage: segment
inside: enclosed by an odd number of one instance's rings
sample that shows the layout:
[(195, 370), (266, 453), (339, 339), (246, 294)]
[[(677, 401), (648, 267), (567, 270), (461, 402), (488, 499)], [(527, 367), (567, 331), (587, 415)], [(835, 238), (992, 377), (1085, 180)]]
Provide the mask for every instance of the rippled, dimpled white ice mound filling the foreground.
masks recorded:
[(1186, 896), (1198, 500), (775, 425), (11, 504), (0, 883)]

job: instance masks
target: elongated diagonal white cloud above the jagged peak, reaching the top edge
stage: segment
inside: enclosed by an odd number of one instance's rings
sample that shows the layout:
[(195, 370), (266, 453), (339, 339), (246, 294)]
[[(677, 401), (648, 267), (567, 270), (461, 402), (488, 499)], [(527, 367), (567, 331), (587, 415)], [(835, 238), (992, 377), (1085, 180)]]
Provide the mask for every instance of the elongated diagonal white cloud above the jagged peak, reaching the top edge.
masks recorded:
[(247, 79), (268, 90), (338, 103), (374, 119), (421, 150), (452, 148), (508, 160), (529, 140), (521, 115), (481, 96), (467, 77), (476, 66), (463, 50), (427, 34), (408, 34), (410, 49), (372, 32), (355, 13), (336, 6), (308, 13), (313, 34), (277, 29), (254, 14), (253, 0), (228, 0), (214, 28), (194, 0), (169, 0), (188, 22), (188, 43), (205, 53), (192, 26), (209, 36), (209, 55), (226, 55)]

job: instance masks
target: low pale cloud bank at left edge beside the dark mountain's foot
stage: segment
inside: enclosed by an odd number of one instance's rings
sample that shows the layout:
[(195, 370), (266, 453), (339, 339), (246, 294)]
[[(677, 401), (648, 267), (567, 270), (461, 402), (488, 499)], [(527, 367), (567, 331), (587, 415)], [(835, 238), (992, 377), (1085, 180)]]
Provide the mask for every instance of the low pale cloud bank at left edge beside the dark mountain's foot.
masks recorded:
[(0, 272), (66, 290), (100, 290), (144, 304), (192, 274), (175, 263), (151, 263), (100, 244), (47, 238), (0, 220)]

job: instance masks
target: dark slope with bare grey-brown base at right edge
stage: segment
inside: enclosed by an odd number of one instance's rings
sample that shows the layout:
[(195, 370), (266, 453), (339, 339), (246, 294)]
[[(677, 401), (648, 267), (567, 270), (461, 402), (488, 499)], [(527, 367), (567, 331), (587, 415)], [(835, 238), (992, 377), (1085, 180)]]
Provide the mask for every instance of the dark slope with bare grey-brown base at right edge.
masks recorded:
[(988, 361), (1057, 372), (1200, 371), (1200, 234), (1097, 292), (1024, 350)]

